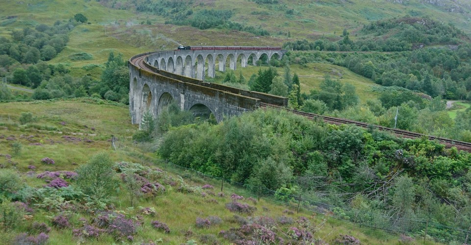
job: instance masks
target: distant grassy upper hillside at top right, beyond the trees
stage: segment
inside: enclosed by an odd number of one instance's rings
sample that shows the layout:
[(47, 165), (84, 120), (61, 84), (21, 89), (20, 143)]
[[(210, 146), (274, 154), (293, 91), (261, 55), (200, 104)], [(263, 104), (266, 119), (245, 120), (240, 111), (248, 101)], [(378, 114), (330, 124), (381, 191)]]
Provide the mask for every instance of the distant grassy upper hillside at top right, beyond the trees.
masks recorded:
[[(250, 0), (232, 1), (195, 1), (205, 2), (204, 7), (215, 9), (230, 9), (235, 12), (233, 21), (247, 25), (259, 26), (270, 30), (273, 34), (278, 31), (291, 32), (293, 39), (315, 38), (322, 34), (339, 35), (344, 28), (354, 30), (369, 21), (404, 16), (433, 16), (446, 23), (453, 23), (468, 33), (469, 14), (450, 13), (442, 7), (422, 4), (419, 0), (407, 1), (406, 4), (392, 3), (386, 0), (297, 0), (282, 1), (282, 4), (256, 4)], [(451, 1), (444, 1), (451, 4)], [(286, 10), (293, 9), (294, 15), (287, 15)], [(465, 6), (465, 11), (470, 10)], [(252, 14), (265, 12), (266, 14)]]

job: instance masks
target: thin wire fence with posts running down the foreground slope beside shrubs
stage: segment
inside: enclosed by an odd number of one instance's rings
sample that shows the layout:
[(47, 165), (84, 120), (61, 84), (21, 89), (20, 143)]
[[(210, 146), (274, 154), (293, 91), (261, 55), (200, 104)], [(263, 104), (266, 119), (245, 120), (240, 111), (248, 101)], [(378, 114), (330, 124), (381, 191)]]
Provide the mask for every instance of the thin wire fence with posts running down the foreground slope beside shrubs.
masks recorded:
[(220, 190), (221, 192), (232, 192), (258, 200), (263, 198), (266, 201), (286, 205), (295, 212), (313, 212), (315, 215), (327, 218), (332, 225), (341, 225), (347, 229), (360, 230), (368, 236), (383, 241), (402, 239), (403, 242), (408, 242), (408, 239), (413, 237), (416, 241), (423, 240), (424, 243), (426, 241), (448, 244), (471, 243), (471, 227), (468, 230), (462, 230), (432, 221), (407, 218), (393, 219), (380, 213), (339, 207), (315, 201), (302, 193), (288, 195), (264, 187), (251, 186), (208, 175), (161, 159), (149, 157), (135, 149), (129, 149), (127, 146), (126, 148), (128, 149), (128, 155), (165, 168), (166, 172), (172, 172), (189, 181), (210, 184), (214, 186), (215, 190)]

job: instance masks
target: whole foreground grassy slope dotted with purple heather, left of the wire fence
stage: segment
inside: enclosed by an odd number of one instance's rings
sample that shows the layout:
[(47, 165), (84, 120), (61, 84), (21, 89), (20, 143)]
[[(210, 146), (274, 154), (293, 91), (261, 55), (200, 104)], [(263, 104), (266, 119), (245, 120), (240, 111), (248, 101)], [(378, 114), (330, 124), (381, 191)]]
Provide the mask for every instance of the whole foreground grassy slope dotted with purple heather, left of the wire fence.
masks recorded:
[[(1, 108), (2, 244), (231, 244), (235, 242), (231, 239), (238, 237), (246, 242), (264, 239), (267, 244), (272, 239), (291, 243), (358, 239), (383, 244), (403, 239), (342, 221), (326, 211), (313, 212), (308, 203), (297, 213), (294, 200), (275, 198), (270, 193), (263, 193), (258, 200), (255, 192), (237, 187), (239, 183), (225, 182), (221, 192), (220, 179), (172, 167), (143, 150), (153, 146), (133, 144), (130, 135), (137, 125), (130, 124), (126, 106), (73, 99), (9, 102), (1, 103)], [(30, 120), (26, 120), (27, 113), (31, 113)], [(112, 135), (117, 150), (112, 148)], [(107, 197), (97, 200), (78, 189), (80, 179), (74, 174), (99, 152), (106, 152), (113, 162), (112, 176), (101, 176), (110, 177), (107, 180), (115, 186)], [(137, 189), (132, 189), (124, 177), (129, 172), (138, 176)], [(54, 177), (56, 173), (58, 177)], [(144, 180), (163, 189), (143, 191)], [(59, 182), (68, 187), (54, 184)], [(228, 209), (230, 203), (241, 203), (247, 210)], [(14, 213), (9, 213), (12, 210)], [(152, 221), (166, 224), (169, 232)], [(293, 233), (297, 229), (302, 236)], [(228, 236), (218, 235), (221, 231)]]

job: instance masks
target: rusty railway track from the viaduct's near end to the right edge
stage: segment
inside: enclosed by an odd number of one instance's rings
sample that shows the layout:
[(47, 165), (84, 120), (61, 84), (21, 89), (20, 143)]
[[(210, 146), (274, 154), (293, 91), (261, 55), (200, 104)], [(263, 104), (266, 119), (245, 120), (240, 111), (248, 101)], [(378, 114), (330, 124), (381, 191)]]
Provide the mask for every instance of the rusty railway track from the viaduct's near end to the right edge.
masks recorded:
[(326, 123), (335, 123), (335, 124), (354, 124), (360, 127), (373, 127), (382, 131), (389, 131), (392, 132), (396, 135), (401, 135), (407, 138), (421, 138), (421, 137), (427, 137), (429, 140), (437, 140), (439, 142), (445, 143), (449, 147), (457, 147), (459, 149), (464, 149), (471, 151), (471, 143), (468, 142), (462, 142), (462, 141), (456, 141), (456, 140), (450, 140), (446, 138), (441, 138), (441, 137), (435, 137), (435, 136), (430, 136), (430, 135), (425, 135), (425, 134), (420, 134), (420, 133), (415, 133), (415, 132), (410, 132), (407, 130), (402, 130), (402, 129), (395, 129), (395, 128), (389, 128), (389, 127), (384, 127), (380, 125), (372, 125), (368, 123), (362, 123), (362, 122), (357, 122), (357, 121), (352, 121), (352, 120), (347, 120), (347, 119), (342, 119), (342, 118), (334, 118), (334, 117), (328, 117), (328, 116), (322, 116), (319, 114), (314, 114), (314, 113), (308, 113), (308, 112), (303, 112), (303, 111), (298, 111), (298, 110), (293, 110), (293, 109), (286, 109), (280, 106), (276, 105), (271, 105), (267, 103), (260, 103), (260, 107), (262, 108), (273, 108), (277, 110), (286, 110), (290, 111), (292, 113), (295, 113), (297, 115), (301, 115), (304, 117), (308, 117), (311, 119), (321, 119), (322, 121)]

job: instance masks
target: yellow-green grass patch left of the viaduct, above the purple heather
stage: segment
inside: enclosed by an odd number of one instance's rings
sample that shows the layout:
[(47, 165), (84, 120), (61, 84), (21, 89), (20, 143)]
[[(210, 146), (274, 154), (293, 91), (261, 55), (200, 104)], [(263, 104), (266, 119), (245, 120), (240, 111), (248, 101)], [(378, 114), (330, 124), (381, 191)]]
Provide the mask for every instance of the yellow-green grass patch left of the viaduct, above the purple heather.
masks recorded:
[[(22, 112), (32, 112), (37, 120), (27, 125), (18, 125)], [(61, 125), (65, 122), (65, 125)], [(130, 124), (127, 107), (99, 105), (74, 101), (58, 102), (11, 102), (1, 103), (0, 110), (1, 154), (9, 153), (10, 141), (6, 137), (14, 135), (23, 145), (22, 154), (13, 156), (17, 168), (27, 172), (28, 165), (38, 167), (37, 171), (70, 170), (71, 164), (85, 163), (91, 154), (111, 147), (108, 139), (119, 132), (122, 138), (130, 137), (136, 125)], [(92, 130), (92, 127), (95, 130)], [(22, 136), (23, 135), (23, 136)], [(70, 135), (82, 139), (80, 142), (67, 142), (62, 137)], [(26, 137), (34, 136), (31, 139)], [(92, 143), (85, 143), (84, 138)], [(41, 143), (42, 146), (30, 145)], [(122, 159), (119, 153), (114, 159)], [(46, 166), (40, 163), (44, 157), (52, 158), (56, 164)], [(3, 160), (3, 159), (2, 159)]]

